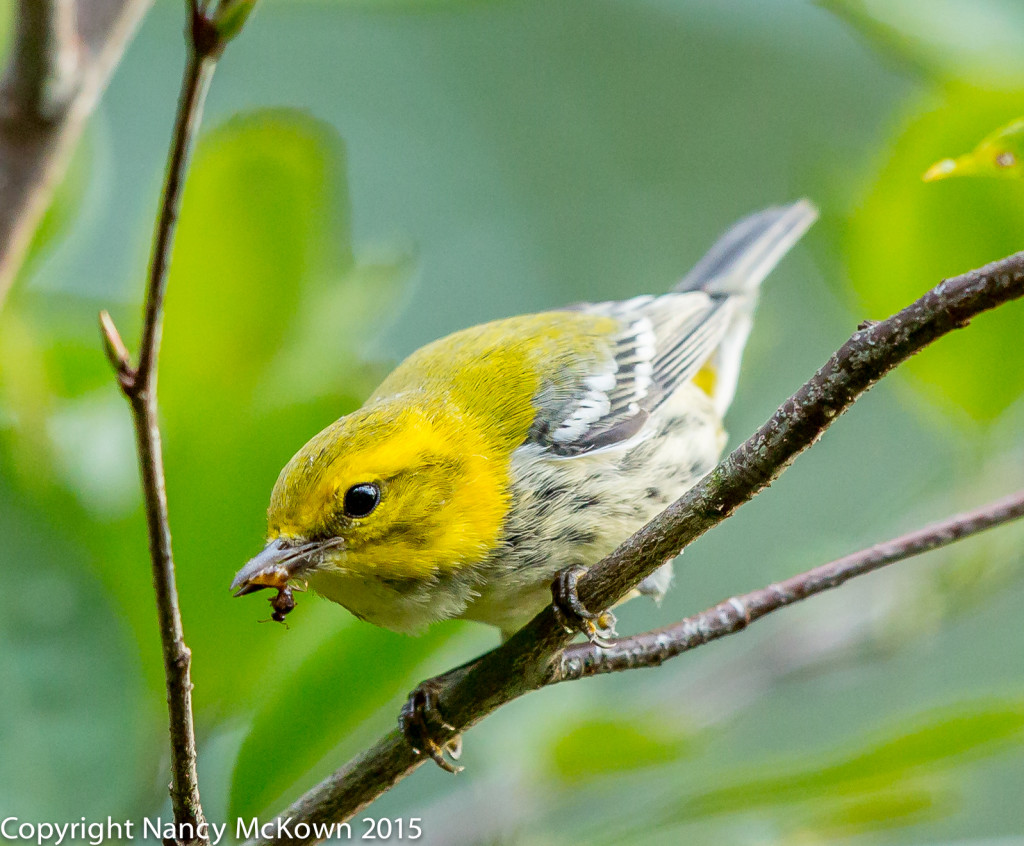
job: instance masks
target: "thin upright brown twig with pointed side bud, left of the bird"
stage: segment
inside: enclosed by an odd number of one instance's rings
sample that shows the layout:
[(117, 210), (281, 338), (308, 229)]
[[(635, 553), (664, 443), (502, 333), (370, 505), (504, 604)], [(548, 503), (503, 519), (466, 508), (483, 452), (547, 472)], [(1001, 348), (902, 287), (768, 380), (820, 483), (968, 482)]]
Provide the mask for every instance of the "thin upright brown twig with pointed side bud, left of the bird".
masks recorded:
[[(171, 530), (167, 514), (164, 460), (157, 419), (157, 362), (160, 356), (164, 294), (169, 257), (181, 207), (188, 160), (199, 132), (203, 102), (222, 44), (215, 26), (195, 0), (189, 5), (188, 62), (181, 84), (174, 134), (168, 154), (160, 214), (154, 235), (139, 364), (133, 368), (128, 349), (105, 311), (99, 315), (106, 356), (122, 392), (131, 406), (138, 451), (145, 518), (153, 560), (153, 584), (160, 621), (160, 638), (167, 680), (167, 707), (171, 739), (171, 806), (180, 837), (208, 844), (196, 772), (196, 732), (191, 705), (191, 652), (185, 645), (178, 608)], [(187, 827), (187, 828), (186, 828)]]

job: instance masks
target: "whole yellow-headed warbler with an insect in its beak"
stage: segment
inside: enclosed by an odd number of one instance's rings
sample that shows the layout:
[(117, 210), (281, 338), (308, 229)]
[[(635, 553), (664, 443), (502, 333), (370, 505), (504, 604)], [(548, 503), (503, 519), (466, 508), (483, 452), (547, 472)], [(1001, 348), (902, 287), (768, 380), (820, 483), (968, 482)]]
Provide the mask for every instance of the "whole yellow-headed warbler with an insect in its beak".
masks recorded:
[[(743, 218), (671, 293), (414, 352), (288, 462), (266, 547), (232, 589), (308, 583), (388, 629), (462, 618), (508, 637), (557, 574), (596, 563), (718, 462), (758, 290), (816, 216), (801, 200)], [(636, 593), (660, 598), (671, 567)]]

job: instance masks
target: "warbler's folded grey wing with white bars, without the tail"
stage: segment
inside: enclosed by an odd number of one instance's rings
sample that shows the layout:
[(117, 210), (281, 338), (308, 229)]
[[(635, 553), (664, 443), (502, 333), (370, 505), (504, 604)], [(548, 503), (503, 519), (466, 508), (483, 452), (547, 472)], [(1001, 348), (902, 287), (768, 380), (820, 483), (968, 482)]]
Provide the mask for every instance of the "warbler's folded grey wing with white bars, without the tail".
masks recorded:
[(529, 439), (558, 456), (627, 440), (677, 386), (692, 379), (722, 342), (729, 298), (702, 291), (596, 303), (580, 310), (615, 319), (604, 361), (553, 379), (536, 404)]

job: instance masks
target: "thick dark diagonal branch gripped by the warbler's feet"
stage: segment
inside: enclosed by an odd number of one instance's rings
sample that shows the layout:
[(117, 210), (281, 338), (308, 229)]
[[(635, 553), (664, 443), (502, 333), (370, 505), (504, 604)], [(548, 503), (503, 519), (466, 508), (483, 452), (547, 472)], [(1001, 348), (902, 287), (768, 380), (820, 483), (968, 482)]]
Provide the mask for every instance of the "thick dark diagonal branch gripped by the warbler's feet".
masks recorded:
[[(946, 280), (916, 302), (856, 332), (754, 435), (579, 583), (590, 608), (609, 607), (687, 544), (764, 490), (853, 403), (897, 365), (972, 318), (1024, 296), (1024, 253)], [(522, 630), (465, 670), (443, 676), (437, 702), (462, 732), (502, 705), (561, 672), (571, 635), (548, 606)], [(423, 763), (398, 730), (381, 738), (285, 810), (292, 836), (257, 841), (311, 843), (301, 823), (351, 817)]]

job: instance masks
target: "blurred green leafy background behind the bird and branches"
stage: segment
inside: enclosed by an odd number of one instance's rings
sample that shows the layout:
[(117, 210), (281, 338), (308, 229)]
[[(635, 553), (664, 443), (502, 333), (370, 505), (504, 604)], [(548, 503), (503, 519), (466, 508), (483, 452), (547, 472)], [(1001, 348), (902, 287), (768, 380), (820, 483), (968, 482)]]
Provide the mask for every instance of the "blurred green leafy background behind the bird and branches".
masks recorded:
[[(128, 410), (183, 61), (128, 50), (0, 312), (0, 816), (166, 811)], [(9, 8), (0, 34), (9, 29)], [(6, 37), (4, 37), (6, 42)], [(214, 80), (160, 371), (207, 815), (266, 815), (490, 647), (227, 590), (278, 471), (420, 344), (671, 287), (735, 218), (822, 219), (769, 280), (729, 417), (762, 422), (863, 319), (1024, 247), (1024, 183), (924, 170), (1024, 113), (1015, 0), (265, 0)], [(1024, 478), (1024, 306), (876, 388), (688, 549), (664, 625)], [(431, 844), (1024, 842), (1024, 532), (859, 580), (662, 669), (514, 703), (367, 814)], [(357, 827), (357, 833), (365, 827)]]

